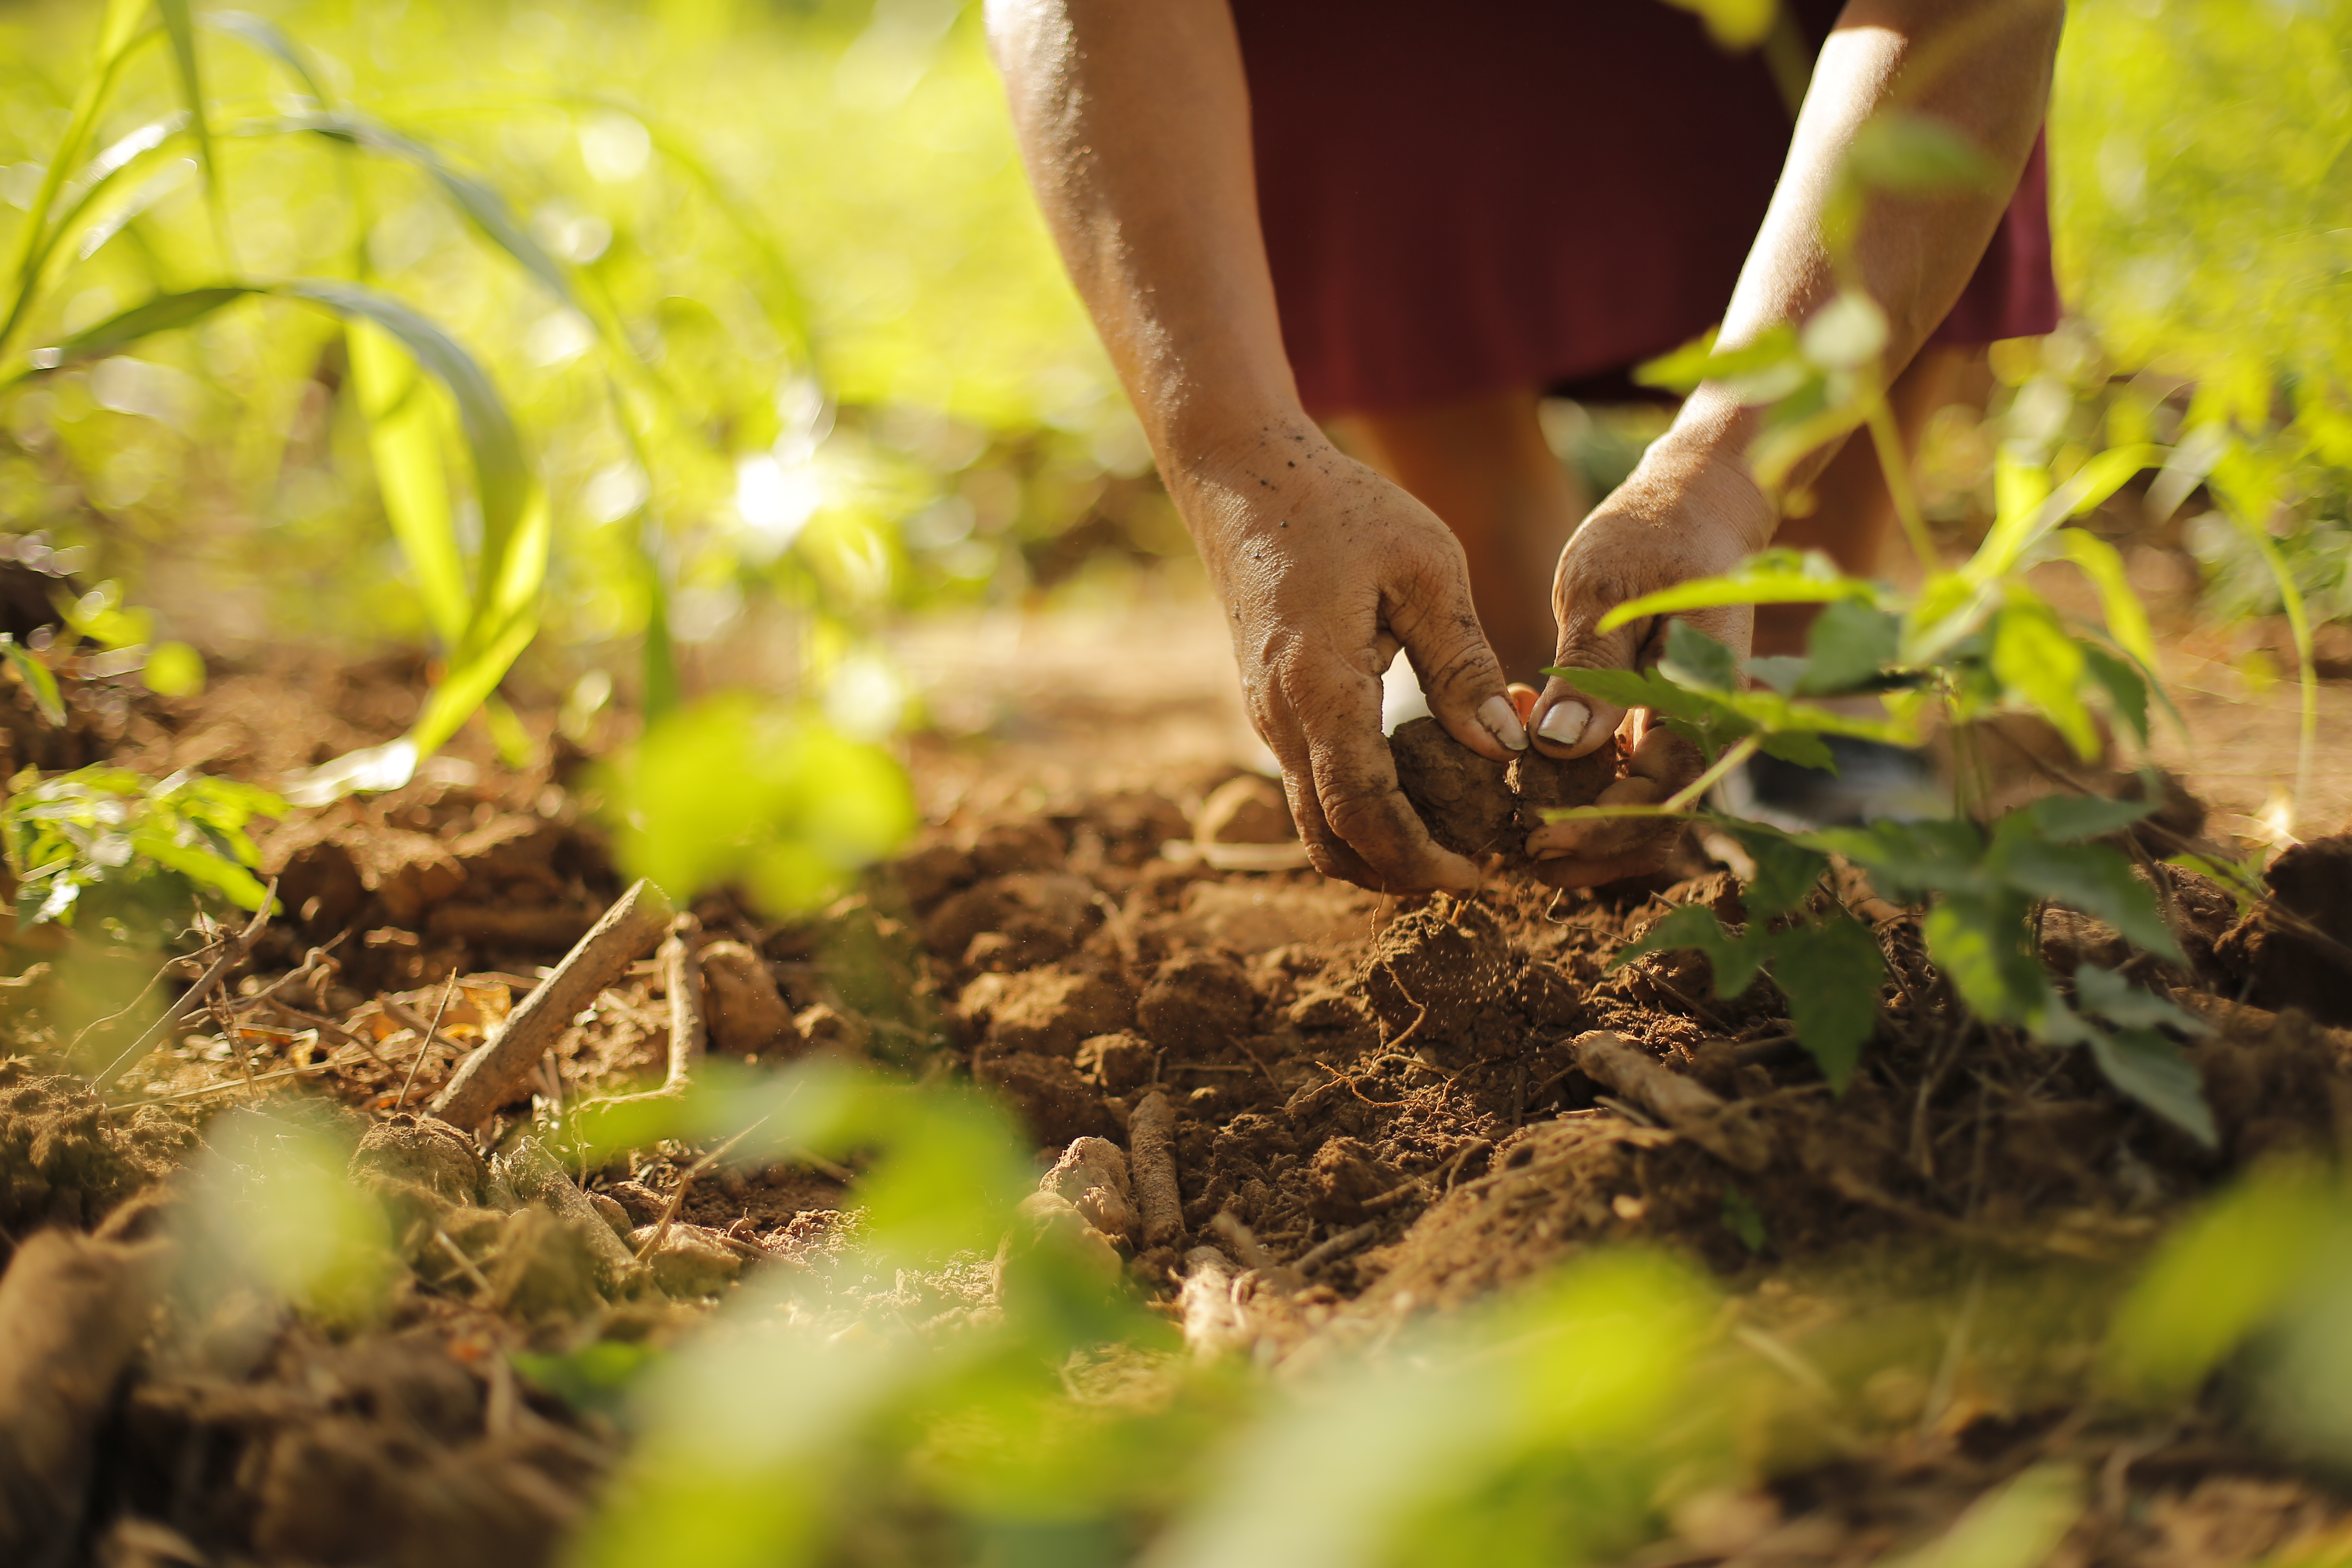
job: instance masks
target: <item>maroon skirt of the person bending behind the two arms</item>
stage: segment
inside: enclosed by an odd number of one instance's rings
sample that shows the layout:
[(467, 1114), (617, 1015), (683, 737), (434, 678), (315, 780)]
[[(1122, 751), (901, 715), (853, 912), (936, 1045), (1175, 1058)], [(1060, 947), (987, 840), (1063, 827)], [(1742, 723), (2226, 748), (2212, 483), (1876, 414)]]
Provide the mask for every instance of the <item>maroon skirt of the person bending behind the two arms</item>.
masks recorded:
[[(1835, 2), (1799, 2), (1813, 38)], [(1232, 0), (1312, 414), (1597, 390), (1722, 320), (1788, 155), (1757, 54), (1663, 0)], [(1936, 341), (2058, 324), (2034, 141)]]

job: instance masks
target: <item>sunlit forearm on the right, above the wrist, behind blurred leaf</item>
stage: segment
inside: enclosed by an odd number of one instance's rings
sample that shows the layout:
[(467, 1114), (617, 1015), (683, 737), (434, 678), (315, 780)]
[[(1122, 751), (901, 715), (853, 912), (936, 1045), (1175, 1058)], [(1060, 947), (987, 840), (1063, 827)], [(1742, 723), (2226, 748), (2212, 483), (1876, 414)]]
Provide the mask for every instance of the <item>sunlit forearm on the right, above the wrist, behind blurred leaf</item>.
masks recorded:
[[(2060, 21), (2058, 0), (1851, 0), (1813, 68), (1780, 186), (1724, 313), (1722, 348), (1802, 322), (1837, 294), (1825, 207), (1853, 134), (1900, 110), (1950, 125), (1999, 174), (1992, 188), (1877, 193), (1863, 212), (1849, 275), (1886, 313), (1886, 374), (1900, 374), (1959, 299), (2009, 205), (2049, 103)], [(1693, 451), (1743, 449), (1755, 423), (1722, 388), (1700, 388), (1677, 437)], [(1799, 463), (1790, 482), (1811, 480), (1832, 451)]]

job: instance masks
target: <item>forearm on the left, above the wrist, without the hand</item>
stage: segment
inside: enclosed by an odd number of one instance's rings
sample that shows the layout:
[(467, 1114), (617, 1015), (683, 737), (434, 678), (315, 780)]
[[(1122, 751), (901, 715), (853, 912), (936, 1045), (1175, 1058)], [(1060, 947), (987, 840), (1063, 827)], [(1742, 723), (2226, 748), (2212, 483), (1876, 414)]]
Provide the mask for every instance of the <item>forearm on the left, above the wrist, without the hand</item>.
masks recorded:
[(1225, 0), (990, 0), (1014, 129), (1171, 484), (1298, 409)]

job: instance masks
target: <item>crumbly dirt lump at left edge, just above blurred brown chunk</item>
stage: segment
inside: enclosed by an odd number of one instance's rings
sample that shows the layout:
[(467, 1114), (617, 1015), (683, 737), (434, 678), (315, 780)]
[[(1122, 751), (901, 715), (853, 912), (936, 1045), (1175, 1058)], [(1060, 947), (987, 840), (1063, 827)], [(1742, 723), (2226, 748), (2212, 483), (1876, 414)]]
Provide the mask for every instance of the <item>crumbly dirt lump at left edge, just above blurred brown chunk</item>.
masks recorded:
[(195, 1135), (155, 1107), (129, 1126), (80, 1079), (33, 1077), (0, 1063), (0, 1232), (96, 1225), (115, 1204), (167, 1175)]

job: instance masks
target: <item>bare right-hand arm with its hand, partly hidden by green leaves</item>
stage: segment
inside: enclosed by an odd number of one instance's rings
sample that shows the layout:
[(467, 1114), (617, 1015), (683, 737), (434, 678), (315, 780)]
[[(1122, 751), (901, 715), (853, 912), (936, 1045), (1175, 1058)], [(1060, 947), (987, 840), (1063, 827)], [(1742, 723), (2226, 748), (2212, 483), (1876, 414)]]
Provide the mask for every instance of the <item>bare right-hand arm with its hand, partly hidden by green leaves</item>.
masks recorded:
[[(1748, 252), (1719, 343), (1736, 348), (1769, 327), (1802, 322), (1837, 294), (1820, 242), (1823, 207), (1863, 122), (1903, 108), (1955, 127), (2004, 181), (1999, 190), (1870, 202), (1853, 263), (1886, 310), (1886, 362), (1889, 371), (1900, 371), (1959, 299), (2009, 205), (2049, 101), (2060, 21), (2060, 0), (1851, 0), (1813, 68), (1780, 186)], [(1698, 388), (1635, 475), (1585, 520), (1552, 585), (1559, 665), (1653, 663), (1665, 639), (1661, 621), (1635, 621), (1609, 635), (1595, 630), (1597, 621), (1625, 599), (1726, 571), (1771, 541), (1778, 515), (1745, 465), (1757, 425), (1759, 411), (1743, 409), (1736, 395)], [(1835, 451), (1835, 444), (1816, 451), (1790, 482), (1818, 475)], [(1686, 618), (1745, 654), (1752, 611)], [(1621, 719), (1621, 708), (1555, 677), (1536, 705), (1536, 743), (1559, 757), (1581, 757), (1604, 745)], [(1628, 738), (1637, 736), (1628, 731)], [(1630, 776), (1604, 799), (1656, 802), (1696, 776), (1696, 759), (1677, 757), (1665, 731), (1639, 741)], [(1630, 825), (1576, 823), (1541, 830), (1531, 849), (1562, 858), (1548, 870), (1555, 882), (1585, 884), (1642, 870), (1651, 849), (1663, 853), (1639, 837)]]

